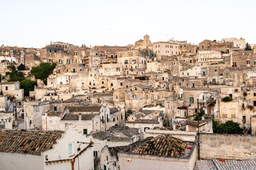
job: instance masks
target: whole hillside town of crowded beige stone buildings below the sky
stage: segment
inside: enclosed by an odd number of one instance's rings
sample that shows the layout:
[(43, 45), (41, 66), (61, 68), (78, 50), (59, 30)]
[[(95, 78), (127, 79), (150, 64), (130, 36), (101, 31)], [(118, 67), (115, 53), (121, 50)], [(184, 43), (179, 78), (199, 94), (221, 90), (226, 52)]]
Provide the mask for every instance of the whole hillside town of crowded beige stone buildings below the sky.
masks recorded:
[(256, 44), (0, 47), (0, 169), (256, 169)]

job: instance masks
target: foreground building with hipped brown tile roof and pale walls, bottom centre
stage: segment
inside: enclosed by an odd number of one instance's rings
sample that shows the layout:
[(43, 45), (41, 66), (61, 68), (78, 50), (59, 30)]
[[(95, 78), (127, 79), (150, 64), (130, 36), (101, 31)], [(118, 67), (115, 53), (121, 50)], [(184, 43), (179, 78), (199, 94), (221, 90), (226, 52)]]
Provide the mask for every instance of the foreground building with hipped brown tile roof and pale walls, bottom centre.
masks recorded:
[[(156, 147), (157, 146), (157, 147)], [(187, 149), (187, 148), (191, 149)], [(164, 149), (168, 148), (168, 149)], [(176, 152), (174, 152), (174, 150)], [(193, 169), (196, 145), (171, 135), (147, 137), (136, 147), (118, 153), (120, 169)]]

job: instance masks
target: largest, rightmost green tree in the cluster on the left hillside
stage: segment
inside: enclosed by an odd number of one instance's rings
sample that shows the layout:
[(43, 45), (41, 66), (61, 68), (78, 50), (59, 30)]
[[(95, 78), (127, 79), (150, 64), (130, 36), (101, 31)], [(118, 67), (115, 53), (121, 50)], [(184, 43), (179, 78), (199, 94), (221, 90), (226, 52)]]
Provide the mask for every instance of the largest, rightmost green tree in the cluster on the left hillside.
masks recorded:
[(36, 77), (36, 79), (41, 79), (45, 84), (47, 84), (47, 78), (53, 73), (53, 69), (56, 64), (50, 64), (48, 62), (42, 62), (38, 67), (32, 67), (31, 74)]

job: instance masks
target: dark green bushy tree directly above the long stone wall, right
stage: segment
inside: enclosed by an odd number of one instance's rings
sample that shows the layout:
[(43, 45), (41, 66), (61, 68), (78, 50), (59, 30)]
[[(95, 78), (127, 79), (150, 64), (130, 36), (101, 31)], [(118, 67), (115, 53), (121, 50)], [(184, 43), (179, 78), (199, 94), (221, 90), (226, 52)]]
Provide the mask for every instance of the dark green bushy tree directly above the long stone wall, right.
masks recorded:
[(218, 125), (217, 121), (213, 120), (213, 132), (222, 134), (243, 134), (239, 124), (231, 120), (220, 125)]

